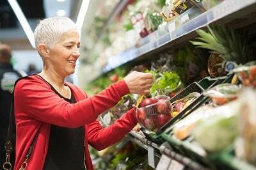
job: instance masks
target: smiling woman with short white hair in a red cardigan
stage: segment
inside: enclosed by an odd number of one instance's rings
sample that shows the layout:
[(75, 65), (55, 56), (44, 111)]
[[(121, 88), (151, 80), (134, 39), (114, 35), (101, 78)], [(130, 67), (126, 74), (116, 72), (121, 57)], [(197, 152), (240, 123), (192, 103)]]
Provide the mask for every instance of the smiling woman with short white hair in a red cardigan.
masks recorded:
[(30, 146), (27, 169), (93, 169), (88, 144), (102, 150), (137, 123), (133, 109), (108, 128), (102, 128), (97, 117), (127, 93), (148, 93), (152, 74), (132, 72), (87, 97), (64, 81), (74, 73), (80, 56), (76, 24), (65, 17), (42, 20), (35, 29), (35, 43), (44, 63), (42, 72), (21, 79), (14, 90), (15, 169), (22, 166)]

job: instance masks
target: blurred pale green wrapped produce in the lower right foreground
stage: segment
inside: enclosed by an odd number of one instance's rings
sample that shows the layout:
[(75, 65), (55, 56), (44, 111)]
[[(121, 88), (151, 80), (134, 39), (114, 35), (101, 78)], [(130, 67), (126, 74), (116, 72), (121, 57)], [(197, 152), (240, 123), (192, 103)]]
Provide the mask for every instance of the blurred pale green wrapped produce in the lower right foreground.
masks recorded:
[(234, 142), (238, 135), (238, 115), (241, 102), (235, 100), (216, 107), (214, 114), (205, 116), (192, 132), (195, 141), (209, 152), (221, 151)]

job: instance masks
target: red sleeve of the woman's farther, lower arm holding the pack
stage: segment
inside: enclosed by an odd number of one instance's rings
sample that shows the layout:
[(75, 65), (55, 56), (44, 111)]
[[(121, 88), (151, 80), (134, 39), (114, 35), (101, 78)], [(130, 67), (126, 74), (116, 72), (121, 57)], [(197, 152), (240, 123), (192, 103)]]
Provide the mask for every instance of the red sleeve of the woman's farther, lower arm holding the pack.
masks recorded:
[(87, 125), (89, 144), (96, 150), (103, 150), (120, 141), (136, 124), (134, 109), (126, 112), (122, 118), (106, 128), (103, 128), (99, 121), (94, 121)]

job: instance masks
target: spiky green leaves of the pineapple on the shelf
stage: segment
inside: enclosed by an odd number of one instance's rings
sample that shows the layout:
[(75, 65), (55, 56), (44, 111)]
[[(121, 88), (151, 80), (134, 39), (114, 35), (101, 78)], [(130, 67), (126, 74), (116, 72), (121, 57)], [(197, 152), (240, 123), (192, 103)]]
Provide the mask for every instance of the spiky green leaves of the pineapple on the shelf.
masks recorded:
[(208, 32), (196, 30), (199, 37), (191, 41), (197, 47), (212, 50), (226, 61), (244, 64), (252, 59), (252, 49), (246, 43), (246, 33), (236, 33), (225, 26), (207, 26)]

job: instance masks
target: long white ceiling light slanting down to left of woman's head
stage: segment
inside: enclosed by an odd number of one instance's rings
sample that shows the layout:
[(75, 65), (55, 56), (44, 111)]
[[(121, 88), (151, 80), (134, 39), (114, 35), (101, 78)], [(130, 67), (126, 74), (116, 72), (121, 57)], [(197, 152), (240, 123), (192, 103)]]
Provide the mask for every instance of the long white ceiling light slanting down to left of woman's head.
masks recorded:
[(19, 4), (16, 0), (8, 0), (8, 3), (10, 3), (10, 6), (12, 6), (12, 10), (15, 13), (17, 19), (20, 22), (20, 25), (22, 26), (26, 36), (28, 37), (29, 42), (31, 43), (31, 46), (35, 49), (35, 40), (34, 40), (34, 33), (29, 26), (28, 20), (26, 19), (24, 13), (20, 9)]

